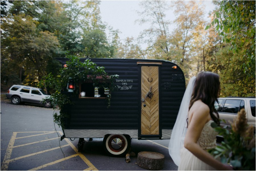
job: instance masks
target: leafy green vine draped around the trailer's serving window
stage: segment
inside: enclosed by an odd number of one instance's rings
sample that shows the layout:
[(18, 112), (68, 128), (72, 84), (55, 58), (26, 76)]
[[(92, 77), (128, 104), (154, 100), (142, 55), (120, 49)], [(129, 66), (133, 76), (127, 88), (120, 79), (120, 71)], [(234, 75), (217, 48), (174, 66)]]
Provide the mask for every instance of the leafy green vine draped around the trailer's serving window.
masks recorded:
[[(50, 87), (54, 89), (54, 93), (45, 100), (50, 100), (54, 109), (59, 109), (59, 113), (53, 114), (54, 122), (64, 127), (63, 119), (68, 118), (68, 114), (63, 111), (63, 107), (67, 104), (72, 104), (69, 97), (63, 91), (67, 91), (67, 83), (72, 80), (75, 83), (73, 93), (69, 93), (69, 96), (77, 96), (79, 94), (79, 83), (90, 81), (94, 87), (108, 87), (109, 94), (106, 96), (107, 107), (110, 107), (111, 92), (114, 90), (114, 80), (118, 78), (118, 75), (108, 75), (104, 71), (103, 66), (97, 66), (90, 59), (86, 59), (81, 62), (76, 56), (69, 56), (69, 61), (66, 62), (65, 68), (61, 68), (57, 77), (54, 77), (51, 73), (42, 78), (39, 82), (39, 87)], [(98, 79), (98, 78), (101, 79)]]

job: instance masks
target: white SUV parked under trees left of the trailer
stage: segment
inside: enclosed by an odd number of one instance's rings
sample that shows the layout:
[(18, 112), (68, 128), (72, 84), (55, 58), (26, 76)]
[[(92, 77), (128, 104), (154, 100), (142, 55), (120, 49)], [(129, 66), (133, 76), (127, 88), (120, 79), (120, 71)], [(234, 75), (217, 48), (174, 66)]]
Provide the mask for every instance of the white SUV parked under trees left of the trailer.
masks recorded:
[(43, 104), (44, 107), (50, 108), (51, 101), (46, 100), (43, 103), (43, 99), (49, 97), (42, 89), (21, 85), (13, 85), (6, 93), (6, 97), (11, 99), (11, 103), (14, 105), (20, 104), (20, 102)]

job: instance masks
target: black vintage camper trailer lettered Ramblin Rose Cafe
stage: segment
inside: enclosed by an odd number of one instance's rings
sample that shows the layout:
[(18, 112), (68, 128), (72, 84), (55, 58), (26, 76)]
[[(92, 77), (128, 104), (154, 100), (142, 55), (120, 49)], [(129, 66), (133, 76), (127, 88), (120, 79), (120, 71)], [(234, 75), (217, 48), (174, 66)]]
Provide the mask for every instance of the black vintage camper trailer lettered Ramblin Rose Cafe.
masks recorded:
[[(64, 66), (67, 58), (59, 58)], [(83, 62), (86, 58), (80, 58)], [(103, 138), (104, 148), (113, 156), (129, 149), (131, 138), (170, 139), (185, 92), (185, 78), (179, 66), (170, 61), (147, 59), (90, 59), (104, 66), (110, 75), (119, 75), (107, 108), (107, 87), (79, 83), (79, 94), (65, 107), (62, 138)], [(67, 95), (68, 91), (63, 91)]]

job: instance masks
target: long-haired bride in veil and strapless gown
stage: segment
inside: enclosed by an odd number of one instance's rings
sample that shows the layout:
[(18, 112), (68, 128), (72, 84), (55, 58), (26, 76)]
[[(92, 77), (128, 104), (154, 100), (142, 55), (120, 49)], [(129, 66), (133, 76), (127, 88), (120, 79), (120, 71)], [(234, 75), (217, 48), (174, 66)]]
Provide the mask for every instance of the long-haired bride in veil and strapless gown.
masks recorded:
[(232, 166), (222, 164), (207, 152), (216, 147), (217, 133), (211, 123), (219, 124), (214, 108), (219, 93), (217, 74), (201, 72), (191, 78), (169, 143), (169, 153), (178, 170), (233, 170)]

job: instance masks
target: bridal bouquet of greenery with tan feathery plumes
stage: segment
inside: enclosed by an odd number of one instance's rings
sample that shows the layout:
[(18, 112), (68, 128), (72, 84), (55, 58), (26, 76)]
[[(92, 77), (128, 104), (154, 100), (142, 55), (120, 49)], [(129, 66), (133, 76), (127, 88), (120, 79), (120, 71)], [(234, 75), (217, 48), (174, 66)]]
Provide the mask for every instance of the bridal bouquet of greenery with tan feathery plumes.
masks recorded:
[(255, 133), (248, 126), (246, 112), (241, 109), (231, 123), (231, 130), (220, 127), (215, 122), (212, 127), (223, 136), (224, 141), (209, 152), (220, 158), (222, 163), (230, 163), (235, 170), (255, 170)]

